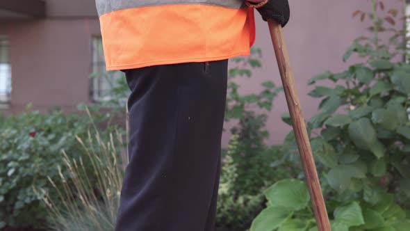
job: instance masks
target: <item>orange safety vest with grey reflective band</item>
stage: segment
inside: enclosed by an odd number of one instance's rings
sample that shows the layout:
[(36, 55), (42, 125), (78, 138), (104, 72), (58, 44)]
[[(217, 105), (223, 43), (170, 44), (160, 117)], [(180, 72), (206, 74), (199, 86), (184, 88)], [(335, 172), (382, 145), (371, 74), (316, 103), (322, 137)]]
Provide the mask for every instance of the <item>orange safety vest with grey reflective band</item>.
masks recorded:
[(243, 0), (96, 0), (107, 70), (249, 55)]

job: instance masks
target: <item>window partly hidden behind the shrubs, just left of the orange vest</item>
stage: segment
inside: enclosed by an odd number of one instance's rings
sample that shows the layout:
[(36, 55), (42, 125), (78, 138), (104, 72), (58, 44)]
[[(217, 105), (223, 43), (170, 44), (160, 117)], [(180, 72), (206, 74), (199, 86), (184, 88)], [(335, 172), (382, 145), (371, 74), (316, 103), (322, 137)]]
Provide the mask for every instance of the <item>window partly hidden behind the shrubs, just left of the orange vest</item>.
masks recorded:
[(120, 71), (106, 71), (101, 37), (93, 37), (91, 47), (90, 97), (94, 102), (108, 102), (114, 99), (113, 88), (117, 87), (124, 77)]

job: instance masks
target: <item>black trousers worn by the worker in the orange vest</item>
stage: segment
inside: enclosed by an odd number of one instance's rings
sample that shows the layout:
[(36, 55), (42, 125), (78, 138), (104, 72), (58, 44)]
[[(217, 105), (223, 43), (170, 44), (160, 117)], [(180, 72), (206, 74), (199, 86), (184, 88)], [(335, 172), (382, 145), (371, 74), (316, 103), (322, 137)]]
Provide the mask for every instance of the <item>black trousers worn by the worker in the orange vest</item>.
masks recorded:
[(227, 60), (125, 73), (129, 164), (115, 230), (214, 230)]

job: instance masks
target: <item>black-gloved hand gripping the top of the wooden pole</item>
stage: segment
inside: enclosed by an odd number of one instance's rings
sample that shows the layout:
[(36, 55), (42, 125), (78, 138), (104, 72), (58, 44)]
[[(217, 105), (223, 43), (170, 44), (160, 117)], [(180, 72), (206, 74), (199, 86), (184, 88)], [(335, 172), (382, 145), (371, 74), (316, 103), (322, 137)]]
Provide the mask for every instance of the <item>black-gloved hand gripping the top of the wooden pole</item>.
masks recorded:
[[(263, 1), (263, 0), (261, 0)], [(260, 0), (249, 0), (249, 3), (261, 3)], [(256, 8), (262, 15), (263, 20), (275, 19), (279, 24), (285, 26), (290, 17), (290, 8), (288, 0), (268, 0), (264, 6)]]

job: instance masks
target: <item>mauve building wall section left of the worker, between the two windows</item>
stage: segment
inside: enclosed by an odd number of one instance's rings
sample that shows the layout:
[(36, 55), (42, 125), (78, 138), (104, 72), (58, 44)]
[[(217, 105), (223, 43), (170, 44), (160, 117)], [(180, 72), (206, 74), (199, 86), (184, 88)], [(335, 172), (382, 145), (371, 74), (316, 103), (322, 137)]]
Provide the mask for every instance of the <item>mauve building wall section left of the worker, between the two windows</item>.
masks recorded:
[(10, 39), (13, 91), (7, 112), (28, 103), (40, 111), (75, 111), (79, 102), (90, 101), (90, 41), (100, 34), (95, 1), (49, 0), (46, 19), (2, 21), (0, 34)]

